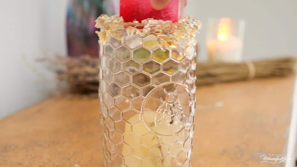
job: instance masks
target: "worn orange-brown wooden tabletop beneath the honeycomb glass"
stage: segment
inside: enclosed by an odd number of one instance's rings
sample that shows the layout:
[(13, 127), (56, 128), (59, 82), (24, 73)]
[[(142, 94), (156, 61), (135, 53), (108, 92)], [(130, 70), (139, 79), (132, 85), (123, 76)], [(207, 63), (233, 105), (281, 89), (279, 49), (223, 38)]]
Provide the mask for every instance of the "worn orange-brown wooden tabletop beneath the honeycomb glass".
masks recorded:
[[(294, 77), (197, 89), (192, 166), (268, 167), (286, 153)], [(1, 167), (102, 166), (97, 99), (49, 98), (0, 120)]]

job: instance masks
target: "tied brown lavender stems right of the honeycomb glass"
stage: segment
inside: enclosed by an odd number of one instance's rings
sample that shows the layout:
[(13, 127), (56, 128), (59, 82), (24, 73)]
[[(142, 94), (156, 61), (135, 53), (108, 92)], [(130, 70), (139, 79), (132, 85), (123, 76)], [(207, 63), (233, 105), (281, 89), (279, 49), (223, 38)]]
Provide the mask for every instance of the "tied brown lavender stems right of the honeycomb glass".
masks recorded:
[(295, 72), (292, 57), (247, 61), (241, 63), (197, 63), (196, 85), (242, 81), (254, 78), (286, 77)]

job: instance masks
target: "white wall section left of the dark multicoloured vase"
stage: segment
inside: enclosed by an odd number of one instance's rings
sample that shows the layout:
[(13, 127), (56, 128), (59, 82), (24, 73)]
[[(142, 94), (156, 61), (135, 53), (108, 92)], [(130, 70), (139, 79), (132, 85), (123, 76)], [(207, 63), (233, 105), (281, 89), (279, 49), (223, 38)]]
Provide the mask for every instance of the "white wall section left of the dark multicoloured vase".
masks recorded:
[(65, 2), (1, 1), (0, 118), (48, 96), (55, 80), (36, 58), (65, 53)]

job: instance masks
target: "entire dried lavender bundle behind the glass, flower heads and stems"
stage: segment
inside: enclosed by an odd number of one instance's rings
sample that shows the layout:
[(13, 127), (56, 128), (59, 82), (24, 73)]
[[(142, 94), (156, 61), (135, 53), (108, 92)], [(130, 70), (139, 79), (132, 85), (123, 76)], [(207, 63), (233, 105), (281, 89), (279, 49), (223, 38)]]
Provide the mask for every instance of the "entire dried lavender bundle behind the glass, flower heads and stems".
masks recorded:
[[(80, 57), (45, 56), (39, 61), (56, 73), (58, 92), (87, 94), (96, 97), (99, 86), (99, 60), (88, 55)], [(242, 63), (197, 63), (196, 85), (248, 80), (253, 78), (286, 77), (295, 72), (296, 60), (291, 57)]]

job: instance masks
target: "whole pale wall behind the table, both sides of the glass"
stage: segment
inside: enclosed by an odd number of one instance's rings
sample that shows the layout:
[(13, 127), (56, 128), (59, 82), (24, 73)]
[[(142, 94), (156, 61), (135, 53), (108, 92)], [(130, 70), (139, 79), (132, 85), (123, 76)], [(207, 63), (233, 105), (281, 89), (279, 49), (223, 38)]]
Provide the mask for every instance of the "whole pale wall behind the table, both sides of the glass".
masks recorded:
[[(296, 0), (188, 0), (185, 15), (204, 24), (198, 35), (200, 60), (207, 59), (205, 32), (210, 17), (245, 19), (244, 59), (260, 59), (297, 55), (296, 7)], [(66, 53), (65, 13), (66, 0), (1, 2), (0, 118), (48, 96), (55, 80), (35, 59), (42, 51)]]

